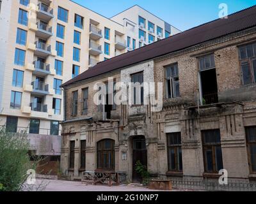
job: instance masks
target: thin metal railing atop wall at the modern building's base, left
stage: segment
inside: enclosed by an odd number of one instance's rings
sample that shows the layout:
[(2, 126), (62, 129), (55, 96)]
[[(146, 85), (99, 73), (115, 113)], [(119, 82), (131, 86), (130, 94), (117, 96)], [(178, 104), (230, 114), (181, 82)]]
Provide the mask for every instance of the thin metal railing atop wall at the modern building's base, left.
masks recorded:
[[(11, 133), (13, 133), (13, 129), (15, 129), (15, 133), (28, 133), (28, 134), (35, 134), (35, 135), (56, 135), (56, 136), (60, 136), (61, 135), (61, 129), (51, 129), (51, 128), (29, 128), (28, 127), (22, 127), (22, 126), (15, 126), (12, 127), (12, 129), (6, 127), (6, 125), (4, 126), (0, 126), (0, 128), (5, 128), (6, 131), (8, 131), (8, 129), (10, 130)], [(30, 132), (30, 133), (29, 133)]]

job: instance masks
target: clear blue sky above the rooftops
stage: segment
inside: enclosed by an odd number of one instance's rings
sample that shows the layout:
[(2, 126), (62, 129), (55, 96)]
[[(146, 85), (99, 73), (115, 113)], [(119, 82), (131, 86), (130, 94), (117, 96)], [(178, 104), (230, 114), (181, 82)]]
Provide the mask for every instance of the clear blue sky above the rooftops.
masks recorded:
[(228, 5), (234, 13), (256, 4), (256, 0), (73, 0), (105, 17), (138, 4), (166, 22), (185, 31), (218, 18), (219, 4)]

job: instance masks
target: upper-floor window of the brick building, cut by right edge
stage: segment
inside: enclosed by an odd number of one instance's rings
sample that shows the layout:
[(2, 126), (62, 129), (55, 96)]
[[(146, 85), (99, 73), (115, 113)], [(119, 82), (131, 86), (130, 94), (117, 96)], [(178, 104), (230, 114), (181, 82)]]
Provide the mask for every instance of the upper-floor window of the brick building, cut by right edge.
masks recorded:
[(243, 85), (256, 82), (256, 43), (239, 47)]

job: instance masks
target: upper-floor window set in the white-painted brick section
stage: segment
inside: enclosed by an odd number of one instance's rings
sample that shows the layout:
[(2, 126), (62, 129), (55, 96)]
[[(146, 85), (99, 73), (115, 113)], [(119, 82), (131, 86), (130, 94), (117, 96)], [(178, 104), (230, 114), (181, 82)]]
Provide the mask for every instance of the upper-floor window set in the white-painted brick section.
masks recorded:
[(133, 105), (143, 105), (144, 94), (143, 94), (143, 71), (131, 75), (132, 92), (133, 92)]

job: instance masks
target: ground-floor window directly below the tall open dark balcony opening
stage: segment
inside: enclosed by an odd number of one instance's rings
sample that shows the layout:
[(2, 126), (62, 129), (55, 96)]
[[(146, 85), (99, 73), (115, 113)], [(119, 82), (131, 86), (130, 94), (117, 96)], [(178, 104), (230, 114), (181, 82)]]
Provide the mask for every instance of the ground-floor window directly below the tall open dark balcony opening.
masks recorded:
[(218, 173), (223, 169), (220, 129), (202, 131), (204, 170), (207, 173)]

